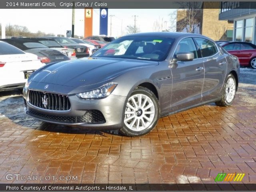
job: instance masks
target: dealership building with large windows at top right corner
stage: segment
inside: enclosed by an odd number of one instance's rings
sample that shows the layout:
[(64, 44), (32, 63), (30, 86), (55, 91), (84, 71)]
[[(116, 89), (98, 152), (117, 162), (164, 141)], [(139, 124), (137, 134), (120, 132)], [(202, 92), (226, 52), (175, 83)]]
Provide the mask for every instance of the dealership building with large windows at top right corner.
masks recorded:
[(256, 2), (222, 2), (219, 20), (233, 20), (233, 41), (256, 44)]

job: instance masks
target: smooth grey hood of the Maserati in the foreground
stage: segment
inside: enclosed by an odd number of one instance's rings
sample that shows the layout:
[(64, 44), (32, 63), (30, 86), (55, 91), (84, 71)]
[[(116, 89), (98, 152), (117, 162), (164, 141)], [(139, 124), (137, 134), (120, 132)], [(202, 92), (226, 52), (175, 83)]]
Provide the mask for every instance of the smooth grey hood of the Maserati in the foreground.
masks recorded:
[(111, 80), (128, 70), (156, 65), (158, 62), (155, 61), (82, 58), (47, 65), (34, 73), (32, 81), (72, 87), (88, 86)]

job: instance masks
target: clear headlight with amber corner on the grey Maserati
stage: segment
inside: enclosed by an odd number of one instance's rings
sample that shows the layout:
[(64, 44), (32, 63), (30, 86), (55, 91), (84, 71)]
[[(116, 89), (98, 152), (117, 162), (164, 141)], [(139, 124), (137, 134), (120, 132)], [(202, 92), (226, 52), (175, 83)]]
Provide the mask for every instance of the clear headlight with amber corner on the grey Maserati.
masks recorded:
[(98, 89), (76, 94), (80, 99), (101, 99), (109, 96), (116, 88), (116, 83), (108, 83)]

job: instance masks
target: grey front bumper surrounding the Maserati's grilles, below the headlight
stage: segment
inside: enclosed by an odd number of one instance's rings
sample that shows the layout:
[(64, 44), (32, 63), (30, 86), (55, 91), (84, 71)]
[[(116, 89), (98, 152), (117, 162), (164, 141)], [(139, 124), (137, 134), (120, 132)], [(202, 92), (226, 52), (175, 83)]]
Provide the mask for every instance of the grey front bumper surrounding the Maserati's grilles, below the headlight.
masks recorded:
[[(118, 129), (122, 127), (122, 114), (126, 102), (126, 97), (124, 96), (110, 95), (107, 98), (96, 100), (81, 100), (76, 95), (68, 96), (71, 108), (67, 111), (46, 110), (33, 106), (27, 102), (27, 90), (25, 88), (23, 90), (23, 97), (26, 105), (24, 108), (25, 114), (44, 122), (99, 130)], [(70, 122), (70, 119), (74, 120), (74, 118), (86, 117), (90, 111), (100, 112), (104, 116), (105, 121), (99, 123)]]

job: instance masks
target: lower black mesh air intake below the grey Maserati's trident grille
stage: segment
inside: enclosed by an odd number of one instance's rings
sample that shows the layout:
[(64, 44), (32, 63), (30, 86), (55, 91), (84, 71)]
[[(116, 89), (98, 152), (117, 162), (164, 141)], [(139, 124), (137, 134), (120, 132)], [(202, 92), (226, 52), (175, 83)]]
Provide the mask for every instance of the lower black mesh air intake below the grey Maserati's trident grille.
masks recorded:
[(106, 123), (106, 120), (103, 114), (98, 110), (88, 110), (83, 116), (56, 116), (56, 115), (48, 115), (37, 112), (31, 108), (28, 108), (28, 112), (32, 114), (32, 116), (43, 118), (46, 120), (52, 120), (55, 122), (63, 122), (63, 123), (90, 123), (90, 124), (102, 124)]

